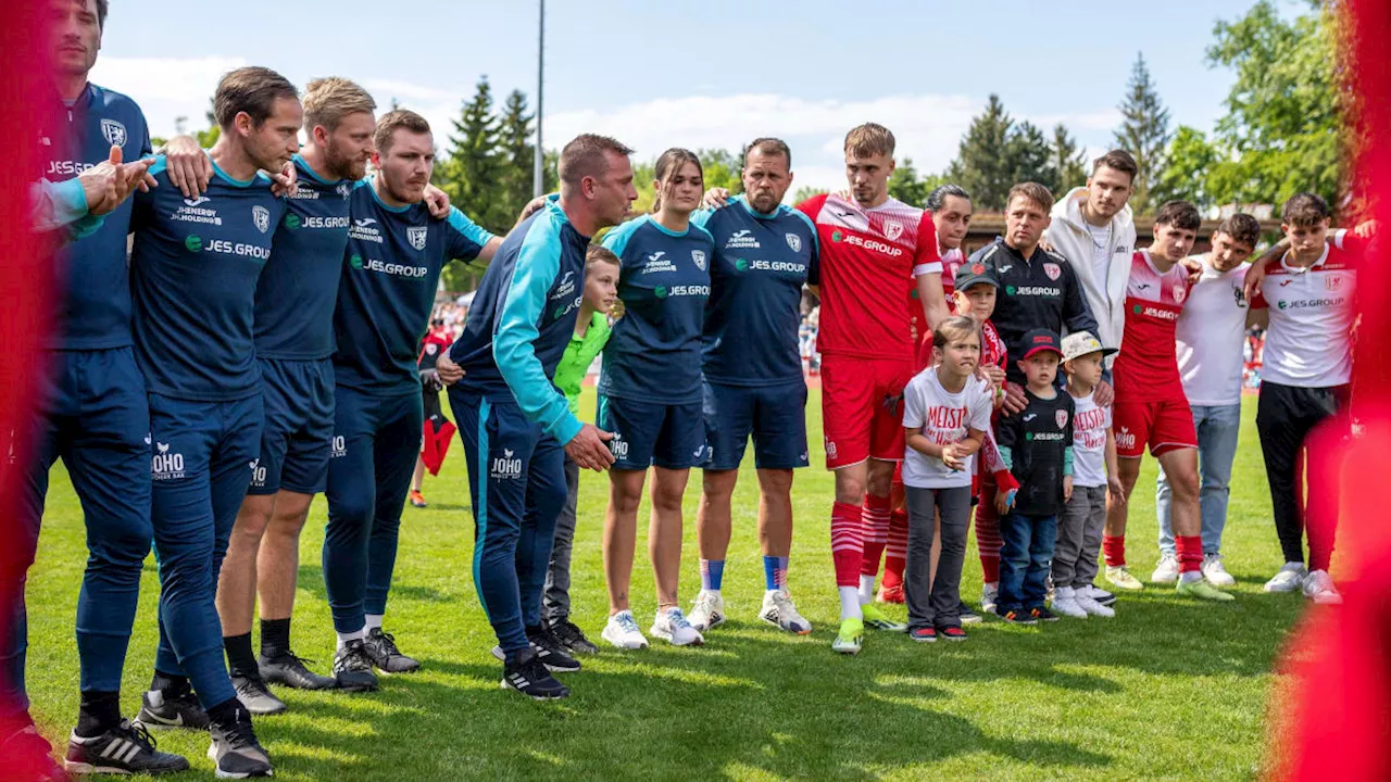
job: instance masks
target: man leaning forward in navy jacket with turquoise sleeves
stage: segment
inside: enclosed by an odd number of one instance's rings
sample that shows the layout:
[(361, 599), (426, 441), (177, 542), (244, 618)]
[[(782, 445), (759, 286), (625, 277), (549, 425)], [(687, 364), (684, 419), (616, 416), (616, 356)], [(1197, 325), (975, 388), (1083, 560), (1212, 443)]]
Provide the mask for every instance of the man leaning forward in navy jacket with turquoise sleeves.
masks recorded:
[(512, 230), (449, 360), (440, 360), (442, 376), (463, 372), (449, 406), (469, 456), (473, 582), (504, 654), (501, 685), (533, 699), (570, 694), (548, 662), (579, 668), (541, 621), (541, 590), (566, 498), (565, 456), (602, 470), (613, 455), (611, 436), (580, 423), (551, 378), (574, 334), (590, 237), (637, 200), (632, 153), (588, 134), (565, 145), (559, 196)]

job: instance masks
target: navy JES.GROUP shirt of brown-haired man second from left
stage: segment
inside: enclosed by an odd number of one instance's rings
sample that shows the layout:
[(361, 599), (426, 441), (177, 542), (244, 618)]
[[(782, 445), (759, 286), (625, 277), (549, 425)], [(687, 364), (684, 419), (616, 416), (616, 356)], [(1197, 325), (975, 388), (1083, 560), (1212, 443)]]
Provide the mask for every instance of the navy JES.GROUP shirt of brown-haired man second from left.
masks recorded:
[(164, 157), (135, 193), (131, 292), (135, 358), (152, 394), (224, 401), (260, 394), (252, 337), (256, 278), (285, 200), (270, 178), (238, 181), (216, 164), (207, 192), (185, 199)]

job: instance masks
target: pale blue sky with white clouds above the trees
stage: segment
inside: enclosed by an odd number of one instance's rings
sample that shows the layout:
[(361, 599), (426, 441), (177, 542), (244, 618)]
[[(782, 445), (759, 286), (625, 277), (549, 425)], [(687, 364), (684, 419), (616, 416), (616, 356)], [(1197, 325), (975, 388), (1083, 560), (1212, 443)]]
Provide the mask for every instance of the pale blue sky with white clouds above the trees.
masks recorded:
[[(1066, 122), (1099, 150), (1118, 124), (1116, 106), (1139, 51), (1174, 127), (1209, 129), (1232, 82), (1205, 61), (1212, 28), (1251, 4), (549, 0), (545, 143), (597, 131), (645, 160), (668, 146), (737, 150), (779, 135), (791, 143), (797, 185), (835, 188), (850, 127), (887, 125), (900, 160), (935, 171), (995, 92), (1015, 118)], [(93, 81), (135, 97), (156, 135), (172, 134), (178, 115), (203, 127), (218, 77), (243, 64), (296, 83), (356, 79), (381, 106), (395, 97), (426, 114), (441, 152), (445, 122), (480, 74), (499, 103), (515, 88), (534, 97), (534, 0), (111, 6)], [(1281, 0), (1281, 8), (1298, 6)], [(192, 29), (206, 32), (177, 32)]]

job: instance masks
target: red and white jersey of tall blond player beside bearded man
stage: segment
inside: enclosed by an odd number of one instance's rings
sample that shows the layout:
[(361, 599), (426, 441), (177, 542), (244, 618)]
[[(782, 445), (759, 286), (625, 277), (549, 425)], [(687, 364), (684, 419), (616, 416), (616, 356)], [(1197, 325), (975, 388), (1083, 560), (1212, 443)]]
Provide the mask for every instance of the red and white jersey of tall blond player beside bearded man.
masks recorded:
[(811, 217), (821, 244), (817, 351), (910, 360), (912, 324), (904, 302), (919, 274), (942, 273), (932, 216), (892, 198), (864, 209), (819, 195), (797, 209)]

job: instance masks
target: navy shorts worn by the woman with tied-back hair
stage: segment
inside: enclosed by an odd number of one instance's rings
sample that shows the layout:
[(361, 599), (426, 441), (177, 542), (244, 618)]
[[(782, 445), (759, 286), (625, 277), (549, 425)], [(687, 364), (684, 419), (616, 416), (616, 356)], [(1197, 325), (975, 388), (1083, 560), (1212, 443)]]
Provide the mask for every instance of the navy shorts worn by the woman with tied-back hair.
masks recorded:
[(600, 394), (598, 427), (613, 433), (613, 469), (645, 470), (655, 465), (684, 470), (705, 463), (705, 419), (700, 408), (700, 402), (664, 405)]

